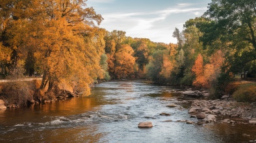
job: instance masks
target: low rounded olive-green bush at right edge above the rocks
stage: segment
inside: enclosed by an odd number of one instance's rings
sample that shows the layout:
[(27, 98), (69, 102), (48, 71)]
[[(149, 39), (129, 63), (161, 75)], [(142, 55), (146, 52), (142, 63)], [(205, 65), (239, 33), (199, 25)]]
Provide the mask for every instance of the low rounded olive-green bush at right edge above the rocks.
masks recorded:
[(256, 83), (240, 85), (233, 98), (238, 102), (256, 102)]

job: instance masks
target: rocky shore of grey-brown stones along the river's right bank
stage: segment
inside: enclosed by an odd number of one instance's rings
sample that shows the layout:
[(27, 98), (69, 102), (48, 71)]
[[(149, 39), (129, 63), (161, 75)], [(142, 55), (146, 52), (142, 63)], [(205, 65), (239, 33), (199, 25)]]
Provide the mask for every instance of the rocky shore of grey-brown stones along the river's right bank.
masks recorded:
[[(227, 97), (227, 96), (226, 96)], [(188, 113), (199, 122), (224, 122), (231, 124), (256, 124), (256, 104), (223, 100), (192, 100)]]

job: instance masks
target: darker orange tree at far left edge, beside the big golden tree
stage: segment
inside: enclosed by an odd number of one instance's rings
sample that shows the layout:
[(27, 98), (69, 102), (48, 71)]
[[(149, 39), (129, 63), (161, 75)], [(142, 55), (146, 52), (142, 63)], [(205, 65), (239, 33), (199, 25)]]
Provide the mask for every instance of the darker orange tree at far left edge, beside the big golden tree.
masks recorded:
[[(24, 48), (26, 47), (27, 25), (29, 17), (29, 7), (32, 1), (10, 1), (3, 0), (0, 4), (0, 43), (11, 51), (10, 62), (0, 63), (5, 67), (6, 75), (23, 74), (20, 68), (23, 68)], [(19, 63), (19, 64), (18, 64)]]

